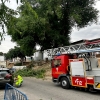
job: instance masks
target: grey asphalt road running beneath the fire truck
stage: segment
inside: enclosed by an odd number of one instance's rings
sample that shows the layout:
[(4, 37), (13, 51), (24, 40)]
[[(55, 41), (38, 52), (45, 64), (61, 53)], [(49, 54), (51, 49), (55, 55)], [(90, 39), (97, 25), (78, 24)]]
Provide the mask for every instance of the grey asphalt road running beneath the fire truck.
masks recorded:
[[(100, 100), (100, 92), (90, 93), (79, 89), (62, 89), (51, 80), (24, 78), (21, 92), (28, 100)], [(3, 100), (4, 90), (0, 90), (0, 100)]]

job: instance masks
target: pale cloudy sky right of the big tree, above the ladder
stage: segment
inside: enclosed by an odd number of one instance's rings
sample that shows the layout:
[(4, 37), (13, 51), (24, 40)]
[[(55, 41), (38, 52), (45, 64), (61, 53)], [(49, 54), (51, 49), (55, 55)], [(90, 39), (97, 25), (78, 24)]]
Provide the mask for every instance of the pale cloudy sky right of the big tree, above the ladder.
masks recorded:
[(71, 41), (100, 38), (100, 0), (96, 3), (96, 8), (99, 10), (98, 25), (94, 24), (79, 31), (74, 29), (71, 34)]

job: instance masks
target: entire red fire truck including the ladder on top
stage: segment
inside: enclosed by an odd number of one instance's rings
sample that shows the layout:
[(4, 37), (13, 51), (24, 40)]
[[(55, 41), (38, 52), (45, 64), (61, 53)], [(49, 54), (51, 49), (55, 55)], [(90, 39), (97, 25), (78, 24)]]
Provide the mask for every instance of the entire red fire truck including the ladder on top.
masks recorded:
[(48, 49), (52, 59), (52, 80), (62, 88), (82, 87), (100, 90), (100, 66), (95, 52), (100, 52), (100, 41)]

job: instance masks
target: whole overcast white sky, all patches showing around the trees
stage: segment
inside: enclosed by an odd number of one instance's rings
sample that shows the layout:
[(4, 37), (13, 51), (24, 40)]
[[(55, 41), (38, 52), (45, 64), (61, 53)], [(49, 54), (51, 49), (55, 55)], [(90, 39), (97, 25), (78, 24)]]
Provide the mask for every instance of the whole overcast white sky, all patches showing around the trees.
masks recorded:
[[(10, 4), (7, 3), (7, 6), (9, 6), (12, 9), (17, 8), (16, 0), (11, 0)], [(96, 3), (96, 8), (100, 11), (100, 1)], [(99, 12), (100, 15), (100, 12)], [(100, 21), (100, 19), (99, 19)], [(81, 39), (95, 39), (100, 38), (100, 22), (98, 21), (98, 25), (91, 25), (88, 27), (85, 27), (83, 29), (77, 30), (73, 29), (71, 33), (71, 41), (78, 41)], [(9, 51), (10, 48), (14, 48), (16, 44), (11, 42), (10, 36), (5, 36), (5, 40), (1, 42), (0, 45), (0, 52), (6, 53)]]

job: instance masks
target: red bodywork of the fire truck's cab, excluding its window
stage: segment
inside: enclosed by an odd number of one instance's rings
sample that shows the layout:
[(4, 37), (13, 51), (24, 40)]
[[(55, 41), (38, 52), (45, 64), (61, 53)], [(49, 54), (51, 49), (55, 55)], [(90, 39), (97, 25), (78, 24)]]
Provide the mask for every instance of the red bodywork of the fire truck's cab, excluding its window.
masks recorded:
[[(69, 58), (70, 58), (69, 55), (60, 55), (54, 57), (51, 65), (53, 78), (58, 78), (59, 75), (68, 73)], [(54, 65), (55, 60), (61, 60), (61, 64), (55, 66)]]

